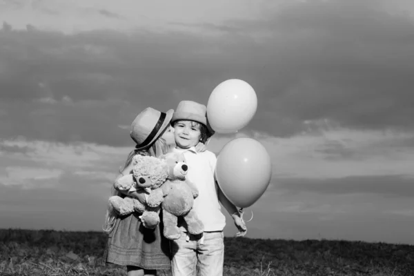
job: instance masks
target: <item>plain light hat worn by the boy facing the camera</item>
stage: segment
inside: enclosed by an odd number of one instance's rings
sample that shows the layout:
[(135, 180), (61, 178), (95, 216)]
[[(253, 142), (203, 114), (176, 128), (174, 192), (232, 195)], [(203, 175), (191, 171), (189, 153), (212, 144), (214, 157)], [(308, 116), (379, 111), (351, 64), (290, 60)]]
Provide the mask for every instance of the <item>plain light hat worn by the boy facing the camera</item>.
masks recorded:
[(172, 115), (171, 123), (178, 120), (197, 121), (207, 127), (210, 136), (215, 133), (208, 124), (207, 107), (204, 104), (195, 101), (180, 101), (174, 115)]

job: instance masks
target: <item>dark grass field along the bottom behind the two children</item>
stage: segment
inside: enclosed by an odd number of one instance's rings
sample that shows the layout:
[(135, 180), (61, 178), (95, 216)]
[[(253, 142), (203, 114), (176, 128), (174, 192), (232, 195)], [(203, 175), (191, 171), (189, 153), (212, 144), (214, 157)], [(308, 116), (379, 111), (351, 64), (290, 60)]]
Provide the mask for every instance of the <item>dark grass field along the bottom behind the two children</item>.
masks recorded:
[[(126, 275), (99, 232), (0, 229), (0, 275)], [(414, 246), (225, 238), (224, 275), (414, 275)], [(160, 275), (170, 275), (163, 271)]]

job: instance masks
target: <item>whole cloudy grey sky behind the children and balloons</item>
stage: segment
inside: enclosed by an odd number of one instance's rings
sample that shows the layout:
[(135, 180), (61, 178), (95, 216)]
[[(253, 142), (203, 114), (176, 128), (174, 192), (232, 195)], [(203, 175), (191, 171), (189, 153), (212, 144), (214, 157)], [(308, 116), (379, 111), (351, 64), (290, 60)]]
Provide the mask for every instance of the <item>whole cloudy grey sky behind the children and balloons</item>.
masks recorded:
[(255, 118), (208, 146), (252, 137), (272, 157), (246, 237), (414, 244), (413, 15), (408, 0), (0, 0), (1, 227), (100, 230), (137, 113), (237, 78)]

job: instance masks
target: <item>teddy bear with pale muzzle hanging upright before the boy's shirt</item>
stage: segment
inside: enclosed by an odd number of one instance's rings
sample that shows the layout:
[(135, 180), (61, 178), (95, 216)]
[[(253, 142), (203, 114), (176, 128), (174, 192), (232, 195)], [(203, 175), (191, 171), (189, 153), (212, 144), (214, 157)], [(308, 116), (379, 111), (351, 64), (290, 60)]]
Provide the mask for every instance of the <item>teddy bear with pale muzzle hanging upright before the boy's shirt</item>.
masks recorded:
[(194, 199), (198, 190), (186, 179), (188, 166), (184, 154), (169, 152), (160, 157), (168, 164), (168, 179), (161, 186), (164, 200), (163, 210), (164, 237), (170, 240), (179, 239), (181, 231), (177, 226), (178, 217), (183, 217), (188, 226), (188, 232), (199, 235), (204, 232), (204, 225), (193, 210)]

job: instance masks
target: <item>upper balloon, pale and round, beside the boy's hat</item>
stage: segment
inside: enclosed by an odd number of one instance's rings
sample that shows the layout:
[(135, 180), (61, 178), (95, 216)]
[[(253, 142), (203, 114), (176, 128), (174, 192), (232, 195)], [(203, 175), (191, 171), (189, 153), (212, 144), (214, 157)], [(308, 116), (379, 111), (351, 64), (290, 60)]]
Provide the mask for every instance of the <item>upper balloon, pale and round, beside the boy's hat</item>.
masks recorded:
[(257, 96), (250, 84), (240, 79), (228, 79), (208, 98), (208, 123), (217, 133), (234, 133), (250, 122), (256, 110)]

